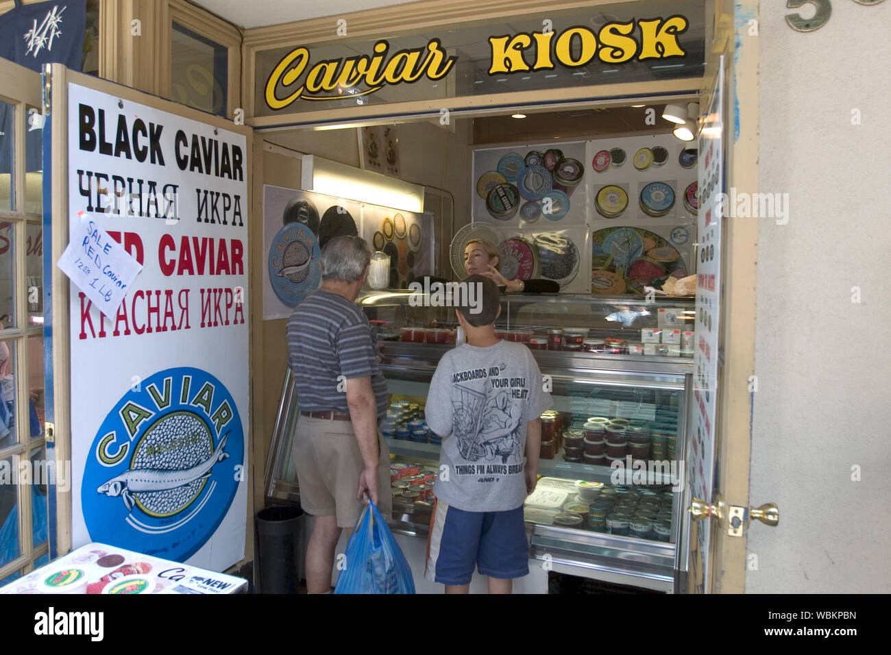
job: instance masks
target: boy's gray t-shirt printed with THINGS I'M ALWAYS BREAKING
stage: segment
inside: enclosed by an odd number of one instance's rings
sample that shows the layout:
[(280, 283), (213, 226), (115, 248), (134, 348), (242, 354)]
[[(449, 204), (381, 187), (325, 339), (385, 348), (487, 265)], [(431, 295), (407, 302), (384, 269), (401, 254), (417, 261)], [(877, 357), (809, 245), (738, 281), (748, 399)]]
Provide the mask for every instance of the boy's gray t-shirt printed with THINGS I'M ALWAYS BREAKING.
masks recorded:
[(429, 429), (443, 438), (437, 498), (465, 512), (522, 505), (527, 422), (551, 405), (535, 357), (521, 343), (462, 344), (446, 353), (424, 410)]

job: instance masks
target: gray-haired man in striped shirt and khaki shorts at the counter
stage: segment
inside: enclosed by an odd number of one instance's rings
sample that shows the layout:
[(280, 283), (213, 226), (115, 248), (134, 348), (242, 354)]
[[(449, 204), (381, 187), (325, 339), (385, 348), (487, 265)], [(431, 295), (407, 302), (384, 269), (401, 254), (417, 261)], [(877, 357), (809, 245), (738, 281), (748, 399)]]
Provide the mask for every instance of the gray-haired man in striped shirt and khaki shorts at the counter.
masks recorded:
[(300, 503), (313, 516), (310, 594), (331, 591), (340, 530), (356, 524), (362, 498), (371, 497), (384, 516), (392, 511), (389, 450), (378, 430), (378, 417), (387, 412), (387, 383), (368, 319), (353, 304), (370, 260), (359, 237), (331, 239), (322, 250), (321, 287), (288, 319), (288, 359), (300, 405), (292, 456)]

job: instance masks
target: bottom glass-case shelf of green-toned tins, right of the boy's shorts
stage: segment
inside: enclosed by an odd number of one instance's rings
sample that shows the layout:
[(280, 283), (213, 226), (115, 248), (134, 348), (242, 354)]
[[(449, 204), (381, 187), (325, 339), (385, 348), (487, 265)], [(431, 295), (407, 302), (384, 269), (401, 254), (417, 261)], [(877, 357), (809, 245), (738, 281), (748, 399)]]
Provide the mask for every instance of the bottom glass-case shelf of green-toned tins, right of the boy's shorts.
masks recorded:
[(576, 489), (578, 493), (570, 496), (553, 516), (553, 525), (671, 541), (674, 494), (670, 486), (609, 485), (579, 480)]

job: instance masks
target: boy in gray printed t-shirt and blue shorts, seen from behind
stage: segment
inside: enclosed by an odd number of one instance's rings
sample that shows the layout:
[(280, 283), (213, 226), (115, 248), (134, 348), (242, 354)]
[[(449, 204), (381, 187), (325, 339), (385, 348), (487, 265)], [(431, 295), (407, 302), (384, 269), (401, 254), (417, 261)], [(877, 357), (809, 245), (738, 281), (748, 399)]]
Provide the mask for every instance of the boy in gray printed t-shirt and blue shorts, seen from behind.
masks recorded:
[(467, 594), (478, 565), (490, 594), (510, 594), (512, 578), (529, 572), (523, 502), (537, 479), (538, 417), (552, 401), (529, 349), (495, 337), (495, 282), (464, 282), (478, 291), (475, 303), (464, 294), (455, 309), (467, 343), (439, 361), (425, 409), (443, 443), (424, 575), (446, 594)]

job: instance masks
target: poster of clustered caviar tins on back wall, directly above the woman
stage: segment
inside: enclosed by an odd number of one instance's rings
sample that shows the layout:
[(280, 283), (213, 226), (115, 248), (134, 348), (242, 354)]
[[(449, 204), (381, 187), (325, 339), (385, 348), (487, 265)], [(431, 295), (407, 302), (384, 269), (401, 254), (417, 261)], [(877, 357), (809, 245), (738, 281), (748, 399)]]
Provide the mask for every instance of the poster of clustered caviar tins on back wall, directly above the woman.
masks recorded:
[(559, 149), (544, 143), (474, 151), (473, 221), (584, 225), (584, 155), (584, 142), (560, 143)]

